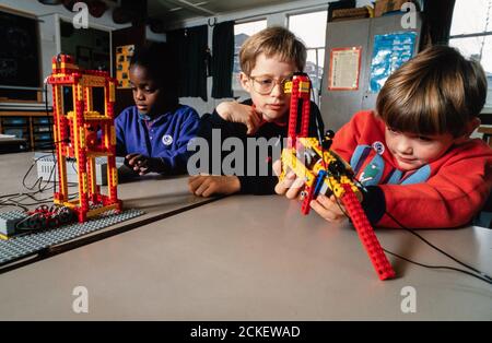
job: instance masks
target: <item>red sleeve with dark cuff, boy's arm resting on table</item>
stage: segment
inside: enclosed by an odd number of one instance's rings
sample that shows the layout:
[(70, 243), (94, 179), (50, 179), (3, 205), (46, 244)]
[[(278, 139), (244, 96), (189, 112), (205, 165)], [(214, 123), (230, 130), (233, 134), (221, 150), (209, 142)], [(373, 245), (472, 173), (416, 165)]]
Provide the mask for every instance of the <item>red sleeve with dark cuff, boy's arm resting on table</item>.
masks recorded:
[(371, 187), (363, 208), (372, 223), (382, 227), (400, 227), (389, 215), (409, 228), (466, 225), (489, 197), (490, 163), (490, 155), (476, 156), (443, 166), (422, 184)]

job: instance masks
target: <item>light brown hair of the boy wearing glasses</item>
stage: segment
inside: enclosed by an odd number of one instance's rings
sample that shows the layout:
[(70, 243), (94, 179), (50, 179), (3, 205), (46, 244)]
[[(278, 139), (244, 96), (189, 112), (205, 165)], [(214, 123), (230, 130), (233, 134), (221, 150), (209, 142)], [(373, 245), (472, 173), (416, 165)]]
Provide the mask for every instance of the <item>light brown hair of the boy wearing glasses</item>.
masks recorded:
[(306, 64), (306, 47), (289, 29), (281, 26), (272, 26), (254, 34), (241, 47), (241, 69), (246, 75), (250, 75), (255, 68), (258, 55), (267, 57), (277, 56), (282, 61), (293, 61), (298, 71), (303, 71)]

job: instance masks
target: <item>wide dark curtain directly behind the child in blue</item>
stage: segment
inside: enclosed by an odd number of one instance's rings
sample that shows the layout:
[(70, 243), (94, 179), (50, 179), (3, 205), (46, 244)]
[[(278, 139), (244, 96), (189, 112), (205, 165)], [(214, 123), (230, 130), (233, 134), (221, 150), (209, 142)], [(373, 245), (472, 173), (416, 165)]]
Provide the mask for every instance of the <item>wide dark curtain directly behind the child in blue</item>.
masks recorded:
[(176, 82), (179, 96), (201, 97), (207, 102), (207, 25), (181, 28), (166, 33), (167, 43), (175, 51), (174, 66), (178, 71)]

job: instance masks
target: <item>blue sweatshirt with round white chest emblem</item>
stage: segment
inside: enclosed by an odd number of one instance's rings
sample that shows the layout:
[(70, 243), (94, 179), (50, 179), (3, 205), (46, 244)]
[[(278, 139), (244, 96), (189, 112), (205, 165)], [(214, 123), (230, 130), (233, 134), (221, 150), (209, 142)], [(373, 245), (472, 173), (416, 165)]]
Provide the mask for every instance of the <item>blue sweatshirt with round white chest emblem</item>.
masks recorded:
[(190, 155), (186, 147), (199, 123), (197, 111), (185, 105), (152, 120), (140, 118), (137, 106), (128, 107), (115, 119), (116, 154), (160, 157), (166, 165), (165, 174), (186, 173)]

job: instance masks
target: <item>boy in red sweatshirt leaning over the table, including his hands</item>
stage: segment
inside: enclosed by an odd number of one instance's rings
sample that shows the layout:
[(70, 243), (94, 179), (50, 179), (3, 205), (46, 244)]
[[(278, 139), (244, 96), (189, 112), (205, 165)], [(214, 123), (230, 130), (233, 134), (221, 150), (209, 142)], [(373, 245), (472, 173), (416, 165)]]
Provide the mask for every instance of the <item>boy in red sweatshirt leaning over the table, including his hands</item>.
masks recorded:
[[(480, 211), (492, 187), (492, 150), (470, 134), (485, 97), (480, 64), (435, 46), (388, 78), (375, 111), (355, 114), (336, 133), (331, 150), (364, 186), (362, 205), (373, 225), (456, 227)], [(294, 178), (279, 182), (277, 193), (296, 198)], [(311, 206), (329, 222), (344, 217), (332, 196)]]

